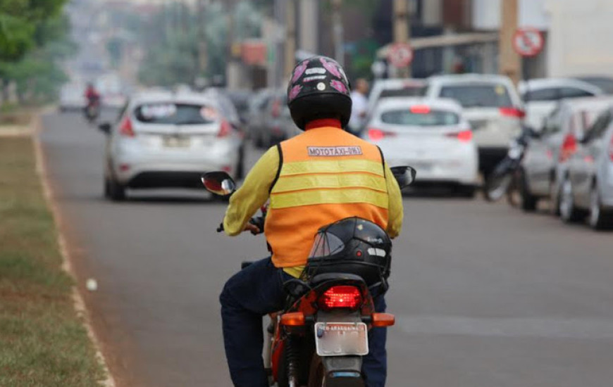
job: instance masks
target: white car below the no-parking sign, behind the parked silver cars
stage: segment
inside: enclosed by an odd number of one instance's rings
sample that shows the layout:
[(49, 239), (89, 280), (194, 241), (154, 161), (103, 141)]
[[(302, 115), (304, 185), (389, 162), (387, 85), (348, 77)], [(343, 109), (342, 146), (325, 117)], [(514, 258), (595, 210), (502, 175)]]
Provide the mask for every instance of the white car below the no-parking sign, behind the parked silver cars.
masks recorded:
[(562, 99), (600, 96), (602, 90), (580, 80), (567, 78), (540, 78), (519, 82), (519, 94), (526, 106), (525, 123), (540, 132), (545, 118)]

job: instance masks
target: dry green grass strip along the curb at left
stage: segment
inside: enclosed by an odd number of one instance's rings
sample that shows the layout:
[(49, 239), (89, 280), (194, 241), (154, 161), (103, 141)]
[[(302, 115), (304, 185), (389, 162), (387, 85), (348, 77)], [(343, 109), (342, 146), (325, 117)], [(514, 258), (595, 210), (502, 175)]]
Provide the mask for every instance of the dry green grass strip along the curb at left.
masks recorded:
[(0, 137), (0, 386), (100, 386), (73, 309), (32, 140)]

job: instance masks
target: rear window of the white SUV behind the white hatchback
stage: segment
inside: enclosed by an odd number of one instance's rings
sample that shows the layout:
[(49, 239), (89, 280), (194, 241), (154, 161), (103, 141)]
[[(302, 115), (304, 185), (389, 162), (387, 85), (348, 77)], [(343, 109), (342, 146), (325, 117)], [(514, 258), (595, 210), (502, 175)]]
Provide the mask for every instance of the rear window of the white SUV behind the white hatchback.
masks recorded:
[(464, 108), (513, 106), (504, 84), (457, 84), (440, 89), (443, 98), (455, 99)]

